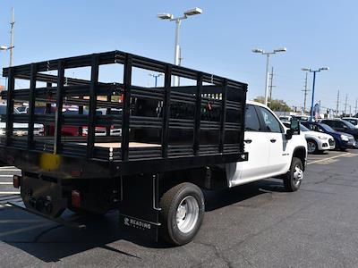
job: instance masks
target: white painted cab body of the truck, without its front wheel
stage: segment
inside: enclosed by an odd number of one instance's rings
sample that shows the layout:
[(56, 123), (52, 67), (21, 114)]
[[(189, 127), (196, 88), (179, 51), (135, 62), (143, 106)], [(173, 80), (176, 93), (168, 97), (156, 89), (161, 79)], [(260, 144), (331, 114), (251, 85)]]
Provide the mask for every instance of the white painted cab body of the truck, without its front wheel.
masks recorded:
[(278, 124), (279, 129), (277, 131), (251, 130), (248, 125), (254, 119), (246, 110), (244, 140), (245, 152), (249, 153), (249, 160), (226, 164), (226, 179), (229, 187), (286, 174), (290, 169), (294, 150), (304, 147), (307, 152), (307, 143), (303, 133), (287, 139), (288, 129), (267, 106), (249, 101), (246, 104), (259, 107), (259, 113), (261, 113), (259, 118), (261, 121), (263, 119), (261, 123), (275, 126)]

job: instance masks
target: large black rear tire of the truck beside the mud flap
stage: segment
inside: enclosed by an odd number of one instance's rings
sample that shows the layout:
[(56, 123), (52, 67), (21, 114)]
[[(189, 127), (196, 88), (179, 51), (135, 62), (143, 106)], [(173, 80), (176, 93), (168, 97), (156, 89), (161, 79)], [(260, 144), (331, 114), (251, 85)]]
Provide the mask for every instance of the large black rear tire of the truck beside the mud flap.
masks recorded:
[[(191, 201), (189, 202), (189, 200)], [(193, 214), (195, 214), (194, 219), (196, 220), (190, 224), (191, 228), (188, 228), (187, 231), (183, 231), (182, 225), (178, 225), (180, 223), (177, 223), (179, 205), (182, 204), (182, 207), (186, 207), (189, 203), (195, 204), (195, 202), (198, 205), (194, 205), (195, 213)], [(167, 242), (175, 246), (181, 246), (191, 242), (200, 230), (200, 225), (205, 212), (204, 196), (200, 188), (189, 182), (178, 184), (166, 191), (166, 193), (161, 197), (159, 205), (161, 207), (160, 220), (162, 226), (160, 234), (162, 239), (165, 239)], [(198, 208), (198, 210), (196, 208)], [(188, 211), (190, 211), (189, 208)], [(193, 214), (185, 213), (183, 215), (183, 221), (185, 222), (192, 219), (190, 217), (192, 217)], [(185, 219), (186, 217), (188, 218)], [(180, 228), (182, 228), (182, 230)]]

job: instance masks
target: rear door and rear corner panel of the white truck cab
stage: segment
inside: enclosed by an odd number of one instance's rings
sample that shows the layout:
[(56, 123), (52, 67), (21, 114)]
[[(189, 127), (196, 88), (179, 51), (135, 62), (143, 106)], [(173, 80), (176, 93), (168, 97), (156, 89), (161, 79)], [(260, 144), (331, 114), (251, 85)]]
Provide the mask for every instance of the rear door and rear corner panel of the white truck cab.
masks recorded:
[(249, 153), (249, 160), (226, 166), (230, 187), (244, 181), (259, 180), (262, 174), (267, 173), (268, 143), (264, 140), (264, 136), (254, 105), (246, 105), (244, 147), (245, 152)]

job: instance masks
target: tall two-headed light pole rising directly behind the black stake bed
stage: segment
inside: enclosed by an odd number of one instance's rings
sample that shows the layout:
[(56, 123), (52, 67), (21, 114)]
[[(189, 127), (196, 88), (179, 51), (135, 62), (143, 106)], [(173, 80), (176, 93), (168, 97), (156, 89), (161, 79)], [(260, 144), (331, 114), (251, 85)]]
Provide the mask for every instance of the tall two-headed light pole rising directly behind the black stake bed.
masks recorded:
[[(161, 20), (169, 20), (169, 21), (175, 21), (175, 54), (174, 54), (174, 63), (175, 65), (179, 65), (180, 63), (180, 45), (179, 45), (179, 30), (180, 30), (180, 25), (182, 23), (183, 20), (188, 19), (189, 16), (193, 16), (193, 15), (199, 15), (202, 13), (202, 10), (199, 7), (195, 7), (192, 8), (186, 12), (183, 13), (182, 17), (174, 17), (173, 14), (171, 13), (161, 13), (158, 14), (157, 17), (158, 19)], [(179, 78), (174, 76), (174, 86), (178, 86), (179, 85)]]

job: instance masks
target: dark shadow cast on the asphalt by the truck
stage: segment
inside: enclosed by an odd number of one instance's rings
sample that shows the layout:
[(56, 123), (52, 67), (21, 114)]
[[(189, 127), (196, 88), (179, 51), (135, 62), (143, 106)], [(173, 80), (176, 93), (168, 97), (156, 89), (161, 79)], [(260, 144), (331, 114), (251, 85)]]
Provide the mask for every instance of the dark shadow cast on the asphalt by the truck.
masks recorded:
[[(261, 180), (217, 192), (205, 191), (204, 195), (207, 211), (212, 211), (272, 191), (284, 191), (282, 182)], [(149, 248), (172, 247), (164, 242), (146, 241), (120, 230), (116, 212), (99, 218), (83, 217), (76, 222), (85, 224), (87, 229), (67, 228), (19, 208), (2, 205), (0, 207), (0, 240), (47, 263), (57, 262), (66, 256), (76, 255), (92, 248), (103, 248), (138, 258), (131, 254), (131, 247), (116, 248), (119, 246), (114, 242), (118, 240)]]

